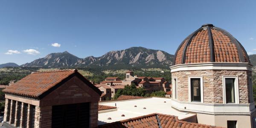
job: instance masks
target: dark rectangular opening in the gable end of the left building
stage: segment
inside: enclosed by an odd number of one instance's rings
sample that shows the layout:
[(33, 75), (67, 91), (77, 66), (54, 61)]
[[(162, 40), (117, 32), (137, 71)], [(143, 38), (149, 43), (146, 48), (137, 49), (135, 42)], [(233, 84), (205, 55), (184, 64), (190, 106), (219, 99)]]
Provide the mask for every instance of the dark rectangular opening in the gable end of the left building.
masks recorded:
[(52, 106), (52, 128), (89, 128), (90, 103)]

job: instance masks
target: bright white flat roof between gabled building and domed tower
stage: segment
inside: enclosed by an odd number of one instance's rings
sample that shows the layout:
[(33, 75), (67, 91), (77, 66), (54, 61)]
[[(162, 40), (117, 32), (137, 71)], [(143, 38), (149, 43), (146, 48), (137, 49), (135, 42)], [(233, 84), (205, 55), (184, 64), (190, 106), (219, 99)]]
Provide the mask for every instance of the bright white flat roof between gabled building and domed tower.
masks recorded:
[[(187, 117), (195, 115), (192, 113), (180, 112), (172, 108), (171, 99), (168, 98), (152, 97), (112, 102), (99, 102), (99, 105), (115, 106), (115, 104), (117, 111), (99, 113), (98, 125), (134, 118), (138, 116), (144, 116), (151, 113), (161, 113), (178, 116), (178, 119), (185, 119)], [(137, 107), (134, 107), (134, 105), (137, 105)], [(143, 109), (144, 107), (146, 109)], [(121, 116), (122, 114), (124, 114), (125, 116)], [(108, 119), (108, 117), (111, 117), (111, 119)]]

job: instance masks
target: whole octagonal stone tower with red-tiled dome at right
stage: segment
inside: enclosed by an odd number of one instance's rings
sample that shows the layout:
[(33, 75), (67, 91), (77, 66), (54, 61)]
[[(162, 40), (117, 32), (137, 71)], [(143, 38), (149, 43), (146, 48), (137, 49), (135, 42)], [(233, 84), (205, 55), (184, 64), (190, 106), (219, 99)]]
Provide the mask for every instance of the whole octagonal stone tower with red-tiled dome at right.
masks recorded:
[(172, 107), (196, 112), (198, 123), (253, 128), (252, 65), (230, 33), (203, 25), (180, 44), (171, 72)]

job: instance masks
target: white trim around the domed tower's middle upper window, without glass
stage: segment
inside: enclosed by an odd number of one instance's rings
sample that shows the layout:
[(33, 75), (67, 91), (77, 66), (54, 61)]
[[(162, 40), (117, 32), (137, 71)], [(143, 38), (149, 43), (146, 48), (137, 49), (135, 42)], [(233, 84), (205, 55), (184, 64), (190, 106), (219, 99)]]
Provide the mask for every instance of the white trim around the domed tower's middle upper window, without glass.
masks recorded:
[[(191, 79), (192, 78), (199, 78), (200, 79), (200, 92), (201, 92), (201, 103), (204, 103), (204, 81), (203, 81), (203, 76), (189, 76), (188, 77), (188, 85), (189, 85), (189, 102), (192, 102), (191, 101)], [(198, 103), (198, 102), (197, 102)]]

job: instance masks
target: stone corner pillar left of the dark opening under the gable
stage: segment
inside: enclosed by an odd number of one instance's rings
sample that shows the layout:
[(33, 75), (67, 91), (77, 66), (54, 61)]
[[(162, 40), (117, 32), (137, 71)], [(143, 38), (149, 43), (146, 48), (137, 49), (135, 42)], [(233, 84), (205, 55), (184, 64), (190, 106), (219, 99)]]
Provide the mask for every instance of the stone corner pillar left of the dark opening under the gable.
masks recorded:
[(35, 128), (52, 127), (52, 106), (35, 107)]

